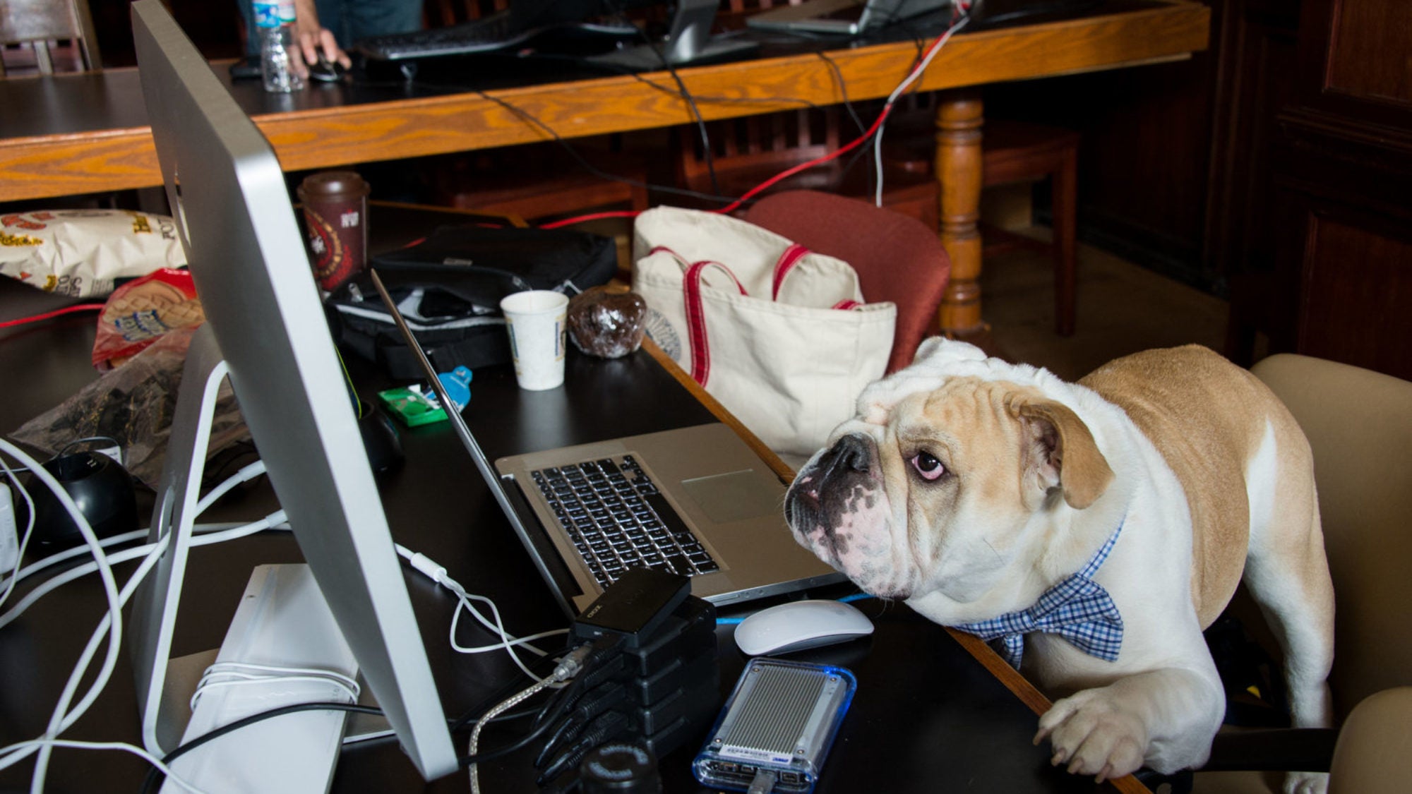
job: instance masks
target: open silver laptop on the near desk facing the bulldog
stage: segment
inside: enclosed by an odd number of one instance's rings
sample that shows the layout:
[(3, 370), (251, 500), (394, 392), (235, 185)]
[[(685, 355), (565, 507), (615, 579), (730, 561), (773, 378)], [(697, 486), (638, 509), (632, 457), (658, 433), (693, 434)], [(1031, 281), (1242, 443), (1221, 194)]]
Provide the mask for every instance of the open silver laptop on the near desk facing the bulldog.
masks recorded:
[[(450, 405), (397, 302), (376, 270), (371, 277)], [(570, 616), (633, 567), (690, 576), (692, 595), (716, 605), (843, 581), (794, 541), (785, 486), (722, 422), (511, 455), (491, 466), (460, 413), (446, 415)]]

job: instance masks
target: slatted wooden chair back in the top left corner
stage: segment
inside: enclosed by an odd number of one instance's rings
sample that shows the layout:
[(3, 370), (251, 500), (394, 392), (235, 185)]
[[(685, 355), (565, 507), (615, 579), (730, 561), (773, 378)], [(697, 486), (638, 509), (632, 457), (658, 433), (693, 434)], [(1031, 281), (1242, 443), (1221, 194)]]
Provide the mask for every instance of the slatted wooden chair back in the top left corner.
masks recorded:
[(40, 73), (54, 73), (51, 45), (61, 44), (72, 48), (79, 71), (102, 68), (88, 0), (0, 0), (0, 76), (11, 49), (32, 51)]

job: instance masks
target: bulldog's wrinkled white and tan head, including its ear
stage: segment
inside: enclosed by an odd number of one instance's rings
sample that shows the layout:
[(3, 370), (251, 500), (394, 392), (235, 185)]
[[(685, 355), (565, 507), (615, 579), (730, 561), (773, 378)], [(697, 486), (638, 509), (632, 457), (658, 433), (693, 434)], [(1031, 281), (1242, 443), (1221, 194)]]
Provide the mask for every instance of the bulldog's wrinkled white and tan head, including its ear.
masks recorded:
[(1036, 516), (1086, 507), (1110, 479), (1083, 422), (1032, 386), (894, 376), (799, 472), (785, 514), (864, 591), (940, 595), (970, 620), (994, 613), (998, 582), (1025, 578), (1045, 541)]

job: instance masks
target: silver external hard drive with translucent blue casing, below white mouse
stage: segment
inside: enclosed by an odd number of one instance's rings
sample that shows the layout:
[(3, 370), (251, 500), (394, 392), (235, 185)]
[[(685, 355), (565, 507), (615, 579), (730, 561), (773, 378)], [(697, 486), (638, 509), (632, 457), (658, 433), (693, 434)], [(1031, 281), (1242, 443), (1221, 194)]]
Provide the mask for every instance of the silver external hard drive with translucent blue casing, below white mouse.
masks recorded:
[(754, 658), (692, 774), (706, 786), (806, 794), (819, 780), (857, 680), (842, 667)]

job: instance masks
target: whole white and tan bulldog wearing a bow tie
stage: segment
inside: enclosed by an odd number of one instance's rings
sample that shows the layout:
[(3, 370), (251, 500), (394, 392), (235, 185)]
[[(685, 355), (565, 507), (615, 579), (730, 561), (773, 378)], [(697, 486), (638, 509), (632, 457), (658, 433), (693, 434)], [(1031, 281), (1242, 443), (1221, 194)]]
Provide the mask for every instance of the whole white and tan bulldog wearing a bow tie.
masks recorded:
[(1206, 760), (1226, 698), (1202, 630), (1243, 576), (1285, 646), (1295, 725), (1330, 722), (1333, 586), (1309, 444), (1260, 380), (1204, 348), (1066, 383), (929, 339), (863, 393), (785, 511), (864, 591), (1003, 640), (1062, 697), (1035, 742), (1072, 773)]

